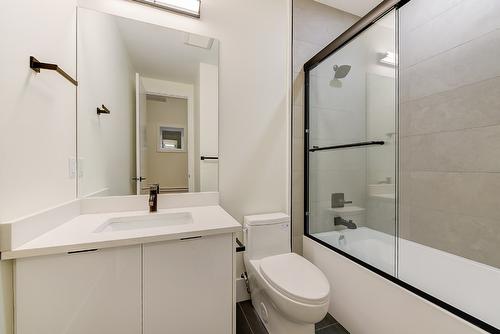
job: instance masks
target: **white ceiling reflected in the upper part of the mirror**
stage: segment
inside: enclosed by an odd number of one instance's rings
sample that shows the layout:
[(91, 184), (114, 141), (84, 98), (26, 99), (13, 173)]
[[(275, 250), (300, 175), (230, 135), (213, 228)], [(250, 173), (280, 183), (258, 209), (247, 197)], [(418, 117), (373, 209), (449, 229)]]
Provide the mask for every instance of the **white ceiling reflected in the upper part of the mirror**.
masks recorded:
[(211, 49), (186, 45), (186, 32), (122, 17), (115, 21), (134, 69), (142, 76), (194, 83), (199, 63), (218, 65), (219, 44)]

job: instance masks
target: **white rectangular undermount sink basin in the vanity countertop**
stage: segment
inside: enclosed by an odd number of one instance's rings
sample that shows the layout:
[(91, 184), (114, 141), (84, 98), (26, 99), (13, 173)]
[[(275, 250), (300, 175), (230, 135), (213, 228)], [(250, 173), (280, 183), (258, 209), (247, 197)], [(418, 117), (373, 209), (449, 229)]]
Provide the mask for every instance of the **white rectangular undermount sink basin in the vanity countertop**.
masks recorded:
[(137, 230), (192, 223), (193, 217), (190, 212), (154, 213), (141, 216), (110, 218), (99, 226), (94, 233)]

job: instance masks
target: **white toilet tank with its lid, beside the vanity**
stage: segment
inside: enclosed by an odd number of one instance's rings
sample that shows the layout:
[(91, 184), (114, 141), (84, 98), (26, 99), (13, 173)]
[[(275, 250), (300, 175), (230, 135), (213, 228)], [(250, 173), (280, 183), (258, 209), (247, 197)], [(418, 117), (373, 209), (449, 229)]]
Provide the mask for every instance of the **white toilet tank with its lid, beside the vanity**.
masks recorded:
[(246, 260), (291, 252), (290, 217), (284, 213), (245, 216), (243, 233)]

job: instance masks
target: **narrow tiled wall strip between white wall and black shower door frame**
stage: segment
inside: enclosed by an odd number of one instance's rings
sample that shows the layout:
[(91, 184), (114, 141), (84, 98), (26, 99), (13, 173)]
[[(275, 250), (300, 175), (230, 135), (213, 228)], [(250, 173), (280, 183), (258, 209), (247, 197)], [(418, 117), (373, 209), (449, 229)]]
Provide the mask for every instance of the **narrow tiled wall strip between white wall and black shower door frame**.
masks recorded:
[(292, 248), (304, 233), (304, 63), (358, 20), (314, 0), (293, 0)]

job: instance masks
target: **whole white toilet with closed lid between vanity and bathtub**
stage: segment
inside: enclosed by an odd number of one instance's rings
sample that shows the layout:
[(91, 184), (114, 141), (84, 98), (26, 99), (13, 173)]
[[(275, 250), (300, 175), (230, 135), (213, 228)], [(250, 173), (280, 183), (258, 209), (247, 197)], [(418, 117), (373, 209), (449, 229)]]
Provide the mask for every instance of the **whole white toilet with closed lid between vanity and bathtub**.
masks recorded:
[(291, 253), (290, 217), (244, 217), (244, 262), (252, 304), (269, 334), (313, 334), (328, 312), (330, 285), (311, 262)]

